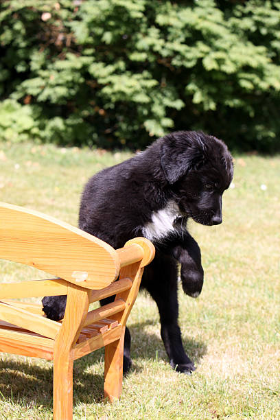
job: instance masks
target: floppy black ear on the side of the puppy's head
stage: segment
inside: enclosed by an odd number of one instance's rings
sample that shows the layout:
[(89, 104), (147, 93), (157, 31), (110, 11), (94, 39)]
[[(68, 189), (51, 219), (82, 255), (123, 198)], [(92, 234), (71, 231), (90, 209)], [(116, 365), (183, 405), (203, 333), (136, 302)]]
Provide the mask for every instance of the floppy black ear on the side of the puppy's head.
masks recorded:
[(167, 136), (161, 147), (161, 167), (168, 183), (174, 184), (188, 174), (190, 170), (198, 170), (205, 163), (205, 154), (198, 145)]

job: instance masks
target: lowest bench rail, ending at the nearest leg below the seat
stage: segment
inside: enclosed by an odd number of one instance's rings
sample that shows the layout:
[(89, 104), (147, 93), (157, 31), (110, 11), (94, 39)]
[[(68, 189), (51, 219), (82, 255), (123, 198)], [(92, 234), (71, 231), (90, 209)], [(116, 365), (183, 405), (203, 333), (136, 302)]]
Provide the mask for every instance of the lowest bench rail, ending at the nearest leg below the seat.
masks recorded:
[(0, 351), (52, 360), (54, 340), (23, 334), (8, 329), (0, 329)]

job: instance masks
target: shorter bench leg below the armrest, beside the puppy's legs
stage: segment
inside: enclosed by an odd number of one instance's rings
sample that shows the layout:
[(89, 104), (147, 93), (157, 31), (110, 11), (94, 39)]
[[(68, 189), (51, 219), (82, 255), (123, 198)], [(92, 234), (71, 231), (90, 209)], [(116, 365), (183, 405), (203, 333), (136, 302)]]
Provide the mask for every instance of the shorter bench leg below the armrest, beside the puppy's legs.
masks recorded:
[(119, 340), (105, 347), (104, 396), (110, 401), (119, 399), (122, 388), (124, 360), (124, 327)]

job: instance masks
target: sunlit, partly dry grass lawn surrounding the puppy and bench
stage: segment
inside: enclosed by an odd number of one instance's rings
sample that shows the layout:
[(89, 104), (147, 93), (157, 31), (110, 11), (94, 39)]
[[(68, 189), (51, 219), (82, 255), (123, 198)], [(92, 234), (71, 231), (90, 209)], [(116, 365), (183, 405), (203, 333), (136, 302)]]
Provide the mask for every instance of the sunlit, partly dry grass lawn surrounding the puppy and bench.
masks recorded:
[[(128, 153), (0, 143), (0, 200), (77, 225), (82, 187)], [(235, 156), (220, 226), (189, 228), (202, 249), (198, 299), (180, 285), (183, 342), (197, 369), (172, 371), (156, 304), (141, 292), (128, 320), (132, 371), (102, 398), (103, 351), (74, 364), (74, 419), (280, 419), (280, 156)], [(42, 278), (1, 261), (1, 281)], [(0, 419), (51, 419), (52, 364), (0, 355)]]

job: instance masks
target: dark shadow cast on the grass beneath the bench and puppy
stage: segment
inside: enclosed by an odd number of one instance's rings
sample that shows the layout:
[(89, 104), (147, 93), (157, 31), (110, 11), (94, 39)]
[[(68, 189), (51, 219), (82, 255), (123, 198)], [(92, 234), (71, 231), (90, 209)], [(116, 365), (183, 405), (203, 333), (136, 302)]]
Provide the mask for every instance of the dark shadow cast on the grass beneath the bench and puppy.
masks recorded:
[[(128, 375), (142, 371), (141, 360), (154, 362), (165, 360), (167, 356), (163, 342), (159, 336), (144, 331), (146, 325), (156, 325), (154, 320), (129, 325), (132, 336), (132, 370)], [(200, 359), (206, 353), (203, 342), (183, 337), (185, 351), (198, 366)], [(87, 372), (91, 366), (104, 363), (104, 349), (94, 351), (79, 360), (75, 360), (73, 368), (73, 406), (78, 403), (92, 404), (103, 399), (103, 373)], [(0, 360), (0, 397), (12, 401), (13, 404), (27, 406), (44, 406), (52, 408), (52, 363), (38, 366), (21, 362), (21, 360)], [(172, 369), (170, 367), (170, 369)], [(99, 370), (97, 368), (96, 370)], [(195, 375), (195, 373), (194, 373)]]

